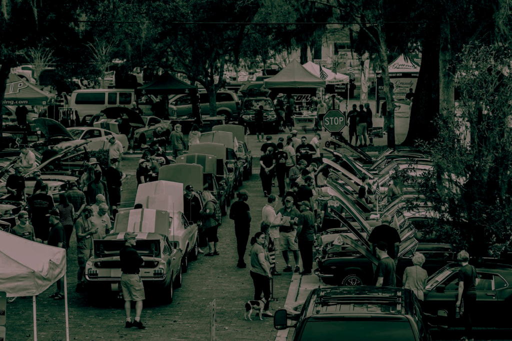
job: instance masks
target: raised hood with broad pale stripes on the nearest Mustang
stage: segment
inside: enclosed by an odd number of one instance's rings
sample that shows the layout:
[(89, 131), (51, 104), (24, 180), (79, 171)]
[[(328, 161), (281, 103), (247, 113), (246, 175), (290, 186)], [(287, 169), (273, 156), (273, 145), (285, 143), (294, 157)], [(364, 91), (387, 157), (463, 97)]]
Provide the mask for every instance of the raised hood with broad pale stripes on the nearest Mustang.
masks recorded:
[(114, 233), (158, 233), (169, 234), (169, 212), (152, 209), (122, 211), (116, 215)]

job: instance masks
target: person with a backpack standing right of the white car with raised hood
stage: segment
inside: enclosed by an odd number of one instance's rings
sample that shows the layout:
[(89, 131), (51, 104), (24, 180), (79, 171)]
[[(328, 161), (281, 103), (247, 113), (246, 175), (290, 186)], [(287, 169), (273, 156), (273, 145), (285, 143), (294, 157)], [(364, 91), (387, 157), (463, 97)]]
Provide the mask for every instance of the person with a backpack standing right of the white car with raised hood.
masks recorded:
[(217, 238), (217, 230), (222, 223), (221, 209), (217, 199), (209, 191), (203, 192), (203, 199), (204, 207), (201, 211), (203, 223), (201, 227), (203, 229), (203, 237), (206, 238), (208, 243), (208, 253), (204, 255), (208, 257), (218, 256), (217, 246), (219, 238)]

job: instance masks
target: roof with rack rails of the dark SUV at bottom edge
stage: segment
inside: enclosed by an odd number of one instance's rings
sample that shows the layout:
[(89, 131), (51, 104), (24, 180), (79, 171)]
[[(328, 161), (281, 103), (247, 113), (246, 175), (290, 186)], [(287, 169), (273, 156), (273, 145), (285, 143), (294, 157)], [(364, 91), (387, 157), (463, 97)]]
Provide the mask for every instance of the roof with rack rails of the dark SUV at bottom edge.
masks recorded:
[(409, 314), (413, 292), (409, 289), (351, 286), (313, 289), (306, 315)]

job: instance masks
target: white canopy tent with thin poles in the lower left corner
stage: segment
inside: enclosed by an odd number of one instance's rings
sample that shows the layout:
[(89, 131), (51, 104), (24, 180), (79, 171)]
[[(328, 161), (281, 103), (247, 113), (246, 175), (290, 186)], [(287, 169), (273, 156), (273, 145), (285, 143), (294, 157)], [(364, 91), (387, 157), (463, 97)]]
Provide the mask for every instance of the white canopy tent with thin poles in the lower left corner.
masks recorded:
[(7, 297), (32, 296), (34, 341), (37, 341), (35, 297), (64, 276), (66, 339), (69, 341), (66, 249), (36, 243), (0, 231), (0, 291)]

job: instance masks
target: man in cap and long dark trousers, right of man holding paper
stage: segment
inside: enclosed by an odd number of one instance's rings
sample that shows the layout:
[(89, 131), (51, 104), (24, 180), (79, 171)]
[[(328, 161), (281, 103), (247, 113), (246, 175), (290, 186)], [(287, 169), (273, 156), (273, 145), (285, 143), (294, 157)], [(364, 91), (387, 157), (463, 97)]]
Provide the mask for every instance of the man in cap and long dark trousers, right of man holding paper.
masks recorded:
[(316, 224), (311, 206), (308, 201), (302, 201), (299, 208), (301, 214), (297, 219), (298, 249), (301, 251), (302, 272), (301, 275), (311, 275), (313, 268), (313, 243), (316, 234)]

